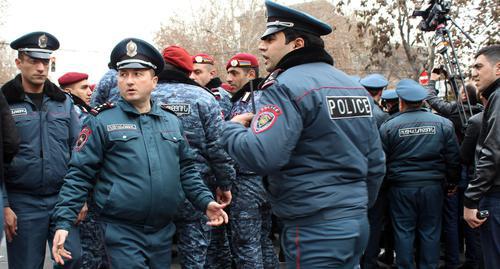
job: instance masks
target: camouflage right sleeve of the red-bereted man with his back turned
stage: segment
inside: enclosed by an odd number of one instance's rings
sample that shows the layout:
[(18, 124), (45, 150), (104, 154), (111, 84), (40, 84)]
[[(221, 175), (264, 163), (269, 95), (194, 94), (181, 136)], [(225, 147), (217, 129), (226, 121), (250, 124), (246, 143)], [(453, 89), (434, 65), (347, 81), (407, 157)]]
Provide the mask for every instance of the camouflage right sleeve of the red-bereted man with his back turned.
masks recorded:
[[(203, 110), (205, 111), (203, 111)], [(236, 178), (233, 160), (220, 143), (221, 128), (223, 124), (222, 112), (219, 104), (214, 99), (208, 106), (200, 109), (200, 118), (203, 119), (203, 129), (206, 139), (206, 154), (210, 166), (217, 179), (217, 186), (230, 187)]]

